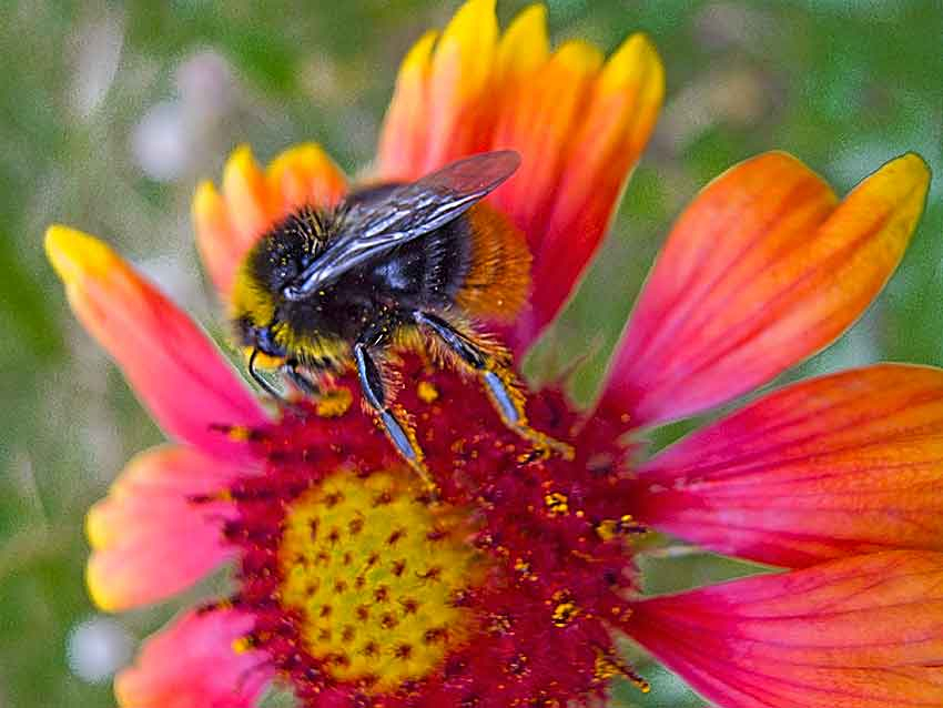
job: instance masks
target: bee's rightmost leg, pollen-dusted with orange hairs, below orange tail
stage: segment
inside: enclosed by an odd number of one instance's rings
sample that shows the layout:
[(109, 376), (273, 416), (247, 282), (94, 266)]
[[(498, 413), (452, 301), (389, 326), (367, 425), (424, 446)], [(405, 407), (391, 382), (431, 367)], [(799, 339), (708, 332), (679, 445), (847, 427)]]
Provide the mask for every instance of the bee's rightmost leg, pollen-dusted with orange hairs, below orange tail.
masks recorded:
[(478, 373), (505, 425), (539, 449), (556, 451), (567, 459), (572, 457), (572, 447), (535, 431), (527, 424), (524, 396), (515, 388), (515, 376), (506, 366), (483, 352), (477, 344), (438, 315), (417, 311), (413, 313), (413, 320), (419, 326), (434, 332), (467, 366)]

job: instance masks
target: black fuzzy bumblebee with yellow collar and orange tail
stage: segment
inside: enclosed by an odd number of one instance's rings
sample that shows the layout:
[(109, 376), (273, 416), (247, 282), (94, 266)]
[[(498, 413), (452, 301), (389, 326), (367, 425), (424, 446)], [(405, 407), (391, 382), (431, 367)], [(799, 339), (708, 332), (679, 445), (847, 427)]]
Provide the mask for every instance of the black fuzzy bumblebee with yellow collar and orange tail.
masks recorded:
[(304, 395), (356, 368), (367, 406), (425, 478), (423, 452), (394, 403), (386, 353), (432, 345), (477, 375), (507, 426), (541, 451), (566, 446), (527, 425), (507, 351), (475, 332), (478, 320), (511, 320), (529, 287), (520, 232), (481, 200), (507, 180), (516, 152), (459, 160), (403, 184), (353, 191), (331, 210), (302, 208), (263, 236), (240, 267), (233, 325), (250, 375), (277, 368)]

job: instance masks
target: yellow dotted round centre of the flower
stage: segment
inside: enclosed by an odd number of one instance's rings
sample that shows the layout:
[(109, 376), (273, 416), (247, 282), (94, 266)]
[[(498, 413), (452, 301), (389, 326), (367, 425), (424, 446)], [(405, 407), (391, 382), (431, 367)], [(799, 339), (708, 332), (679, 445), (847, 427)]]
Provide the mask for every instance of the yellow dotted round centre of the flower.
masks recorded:
[(459, 598), (484, 559), (467, 517), (417, 498), (412, 477), (331, 475), (291, 504), (278, 550), (281, 601), (300, 613), (305, 648), (367, 692), (428, 676), (474, 629)]

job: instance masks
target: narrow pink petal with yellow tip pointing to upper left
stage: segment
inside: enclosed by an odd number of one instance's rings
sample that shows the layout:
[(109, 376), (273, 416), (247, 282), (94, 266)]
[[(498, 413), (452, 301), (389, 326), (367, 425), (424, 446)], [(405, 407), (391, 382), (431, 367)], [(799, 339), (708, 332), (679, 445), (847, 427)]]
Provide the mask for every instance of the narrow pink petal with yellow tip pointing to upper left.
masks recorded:
[(204, 452), (245, 456), (245, 444), (215, 426), (257, 427), (265, 414), (193, 321), (98, 239), (51, 226), (45, 250), (72, 310), (154, 419)]

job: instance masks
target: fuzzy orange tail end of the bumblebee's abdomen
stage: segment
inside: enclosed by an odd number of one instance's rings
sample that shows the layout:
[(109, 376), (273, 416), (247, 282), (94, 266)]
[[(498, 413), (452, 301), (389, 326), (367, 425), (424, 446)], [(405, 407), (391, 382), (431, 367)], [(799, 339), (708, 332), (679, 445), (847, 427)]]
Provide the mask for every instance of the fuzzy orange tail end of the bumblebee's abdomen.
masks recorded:
[(470, 229), (472, 253), (456, 304), (475, 317), (513, 320), (530, 292), (530, 251), (524, 234), (486, 203), (468, 210), (463, 221)]

